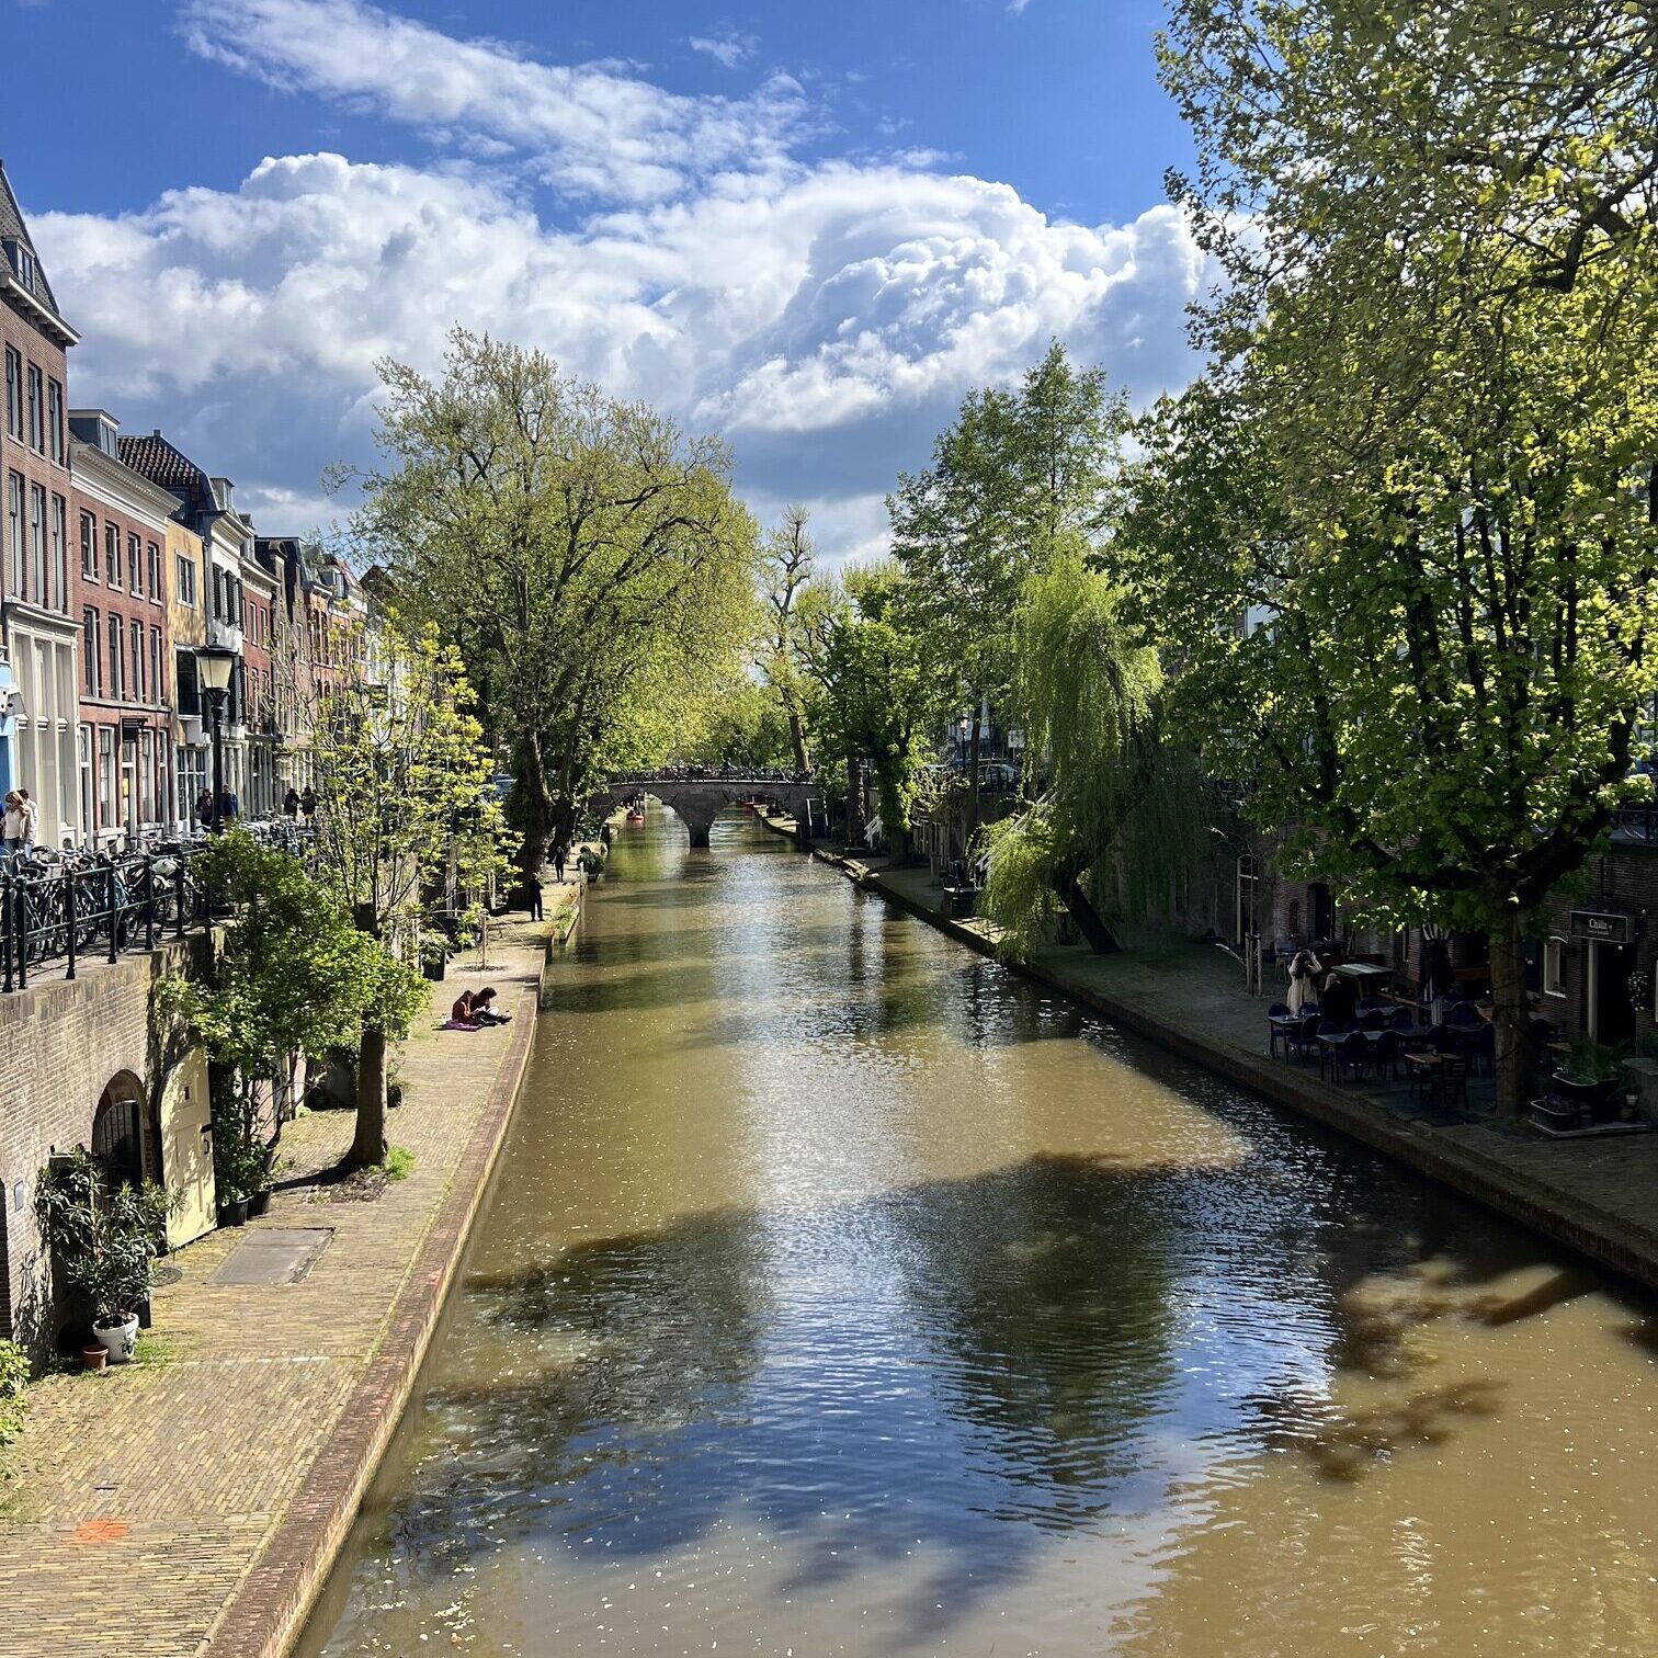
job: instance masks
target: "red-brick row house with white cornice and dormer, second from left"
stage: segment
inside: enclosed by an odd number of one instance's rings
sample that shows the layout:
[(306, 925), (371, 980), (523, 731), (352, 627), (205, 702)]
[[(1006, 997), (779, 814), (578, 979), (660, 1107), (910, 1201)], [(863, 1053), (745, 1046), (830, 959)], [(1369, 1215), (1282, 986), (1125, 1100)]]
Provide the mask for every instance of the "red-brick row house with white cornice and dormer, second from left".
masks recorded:
[(169, 832), (179, 817), (172, 764), (172, 640), (167, 491), (119, 454), (104, 410), (70, 414), (81, 618), (80, 824), (95, 846)]

